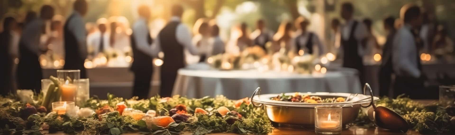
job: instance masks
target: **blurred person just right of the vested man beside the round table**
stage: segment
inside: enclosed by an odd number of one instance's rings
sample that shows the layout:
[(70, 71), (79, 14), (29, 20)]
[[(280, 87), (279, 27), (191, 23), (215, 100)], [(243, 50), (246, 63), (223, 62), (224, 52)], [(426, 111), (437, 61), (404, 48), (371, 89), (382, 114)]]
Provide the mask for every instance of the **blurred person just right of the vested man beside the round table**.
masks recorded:
[(373, 21), (367, 18), (363, 20), (363, 23), (367, 27), (368, 32), (365, 39), (364, 58), (366, 61), (370, 61), (373, 59), (374, 54), (379, 53), (379, 49), (381, 49), (381, 47), (379, 46), (379, 43), (372, 31)]

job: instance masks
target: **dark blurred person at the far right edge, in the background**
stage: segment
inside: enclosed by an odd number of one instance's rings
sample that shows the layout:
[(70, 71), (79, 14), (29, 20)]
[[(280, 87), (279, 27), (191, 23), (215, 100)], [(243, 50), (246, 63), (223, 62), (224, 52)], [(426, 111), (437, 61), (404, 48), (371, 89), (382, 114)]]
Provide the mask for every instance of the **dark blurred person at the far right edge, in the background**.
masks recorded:
[(449, 54), (454, 51), (454, 43), (447, 35), (444, 26), (439, 25), (433, 43), (431, 43), (432, 52), (436, 55)]

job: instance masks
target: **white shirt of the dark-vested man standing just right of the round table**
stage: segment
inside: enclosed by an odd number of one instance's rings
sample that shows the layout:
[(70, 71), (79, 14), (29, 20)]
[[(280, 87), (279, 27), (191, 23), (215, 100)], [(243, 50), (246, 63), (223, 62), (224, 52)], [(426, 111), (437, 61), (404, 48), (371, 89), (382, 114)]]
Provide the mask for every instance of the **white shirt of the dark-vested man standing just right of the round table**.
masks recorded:
[[(351, 35), (352, 25), (354, 24), (354, 19), (346, 21), (341, 27), (341, 35), (344, 40), (348, 40)], [(354, 38), (357, 39), (358, 43), (358, 53), (359, 56), (364, 55), (364, 47), (362, 46), (362, 40), (368, 36), (367, 27), (364, 23), (357, 21), (357, 27), (354, 29)]]

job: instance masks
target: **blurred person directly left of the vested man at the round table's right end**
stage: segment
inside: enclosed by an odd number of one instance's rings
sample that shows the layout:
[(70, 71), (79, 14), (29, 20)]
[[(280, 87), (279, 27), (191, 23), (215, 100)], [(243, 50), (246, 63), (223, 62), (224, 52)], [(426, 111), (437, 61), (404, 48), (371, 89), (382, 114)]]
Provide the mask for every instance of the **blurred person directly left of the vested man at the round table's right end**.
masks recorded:
[(340, 47), (340, 21), (339, 19), (332, 19), (330, 22), (330, 44), (327, 46), (329, 52), (338, 54), (338, 49)]

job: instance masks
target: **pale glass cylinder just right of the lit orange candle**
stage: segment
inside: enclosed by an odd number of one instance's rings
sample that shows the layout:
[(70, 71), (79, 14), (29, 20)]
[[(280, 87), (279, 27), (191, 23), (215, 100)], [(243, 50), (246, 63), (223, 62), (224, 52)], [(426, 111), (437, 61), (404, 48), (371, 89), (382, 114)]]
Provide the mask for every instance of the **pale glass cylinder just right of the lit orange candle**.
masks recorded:
[(76, 106), (82, 106), (90, 98), (90, 80), (79, 79), (76, 93)]

